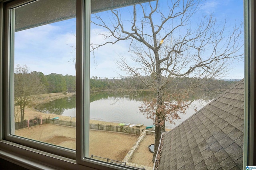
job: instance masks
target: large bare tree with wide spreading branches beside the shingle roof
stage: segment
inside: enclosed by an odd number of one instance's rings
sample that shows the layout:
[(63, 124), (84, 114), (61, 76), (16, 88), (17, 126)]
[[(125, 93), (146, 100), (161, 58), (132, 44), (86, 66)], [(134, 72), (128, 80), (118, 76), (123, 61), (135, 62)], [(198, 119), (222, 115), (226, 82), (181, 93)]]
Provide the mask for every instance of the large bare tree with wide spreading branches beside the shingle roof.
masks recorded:
[[(112, 10), (109, 18), (98, 14), (91, 18), (93, 24), (104, 29), (103, 33), (98, 32), (104, 37), (104, 42), (91, 44), (92, 51), (106, 44), (128, 41), (136, 66), (120, 57), (118, 67), (126, 76), (139, 78), (145, 87), (155, 89), (155, 102), (144, 102), (141, 107), (142, 112), (151, 113), (149, 117), (155, 120), (153, 161), (160, 135), (165, 131), (166, 116), (175, 115), (177, 108), (185, 109), (191, 103), (175, 102), (176, 106), (171, 108), (174, 103), (168, 102), (170, 99), (165, 101), (167, 98), (164, 97), (166, 84), (176, 77), (194, 77), (194, 83), (189, 84), (185, 92), (189, 94), (202, 85), (202, 79), (220, 76), (227, 71), (228, 64), (243, 55), (240, 50), (242, 24), (227, 31), (225, 21), (219, 25), (213, 15), (200, 16), (198, 10), (200, 0), (156, 0), (134, 5), (130, 13), (119, 9)], [(150, 112), (145, 110), (146, 107)]]

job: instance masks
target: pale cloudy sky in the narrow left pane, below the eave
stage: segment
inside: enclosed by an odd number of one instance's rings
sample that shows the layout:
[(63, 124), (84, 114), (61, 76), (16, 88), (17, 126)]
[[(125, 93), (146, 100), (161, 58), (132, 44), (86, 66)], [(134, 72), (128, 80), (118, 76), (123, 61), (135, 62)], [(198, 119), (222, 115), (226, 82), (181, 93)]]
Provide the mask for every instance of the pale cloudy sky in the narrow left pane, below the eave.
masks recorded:
[[(70, 25), (69, 25), (70, 26)], [(76, 37), (61, 22), (42, 25), (15, 33), (14, 63), (26, 64), (32, 71), (44, 74), (75, 75)]]

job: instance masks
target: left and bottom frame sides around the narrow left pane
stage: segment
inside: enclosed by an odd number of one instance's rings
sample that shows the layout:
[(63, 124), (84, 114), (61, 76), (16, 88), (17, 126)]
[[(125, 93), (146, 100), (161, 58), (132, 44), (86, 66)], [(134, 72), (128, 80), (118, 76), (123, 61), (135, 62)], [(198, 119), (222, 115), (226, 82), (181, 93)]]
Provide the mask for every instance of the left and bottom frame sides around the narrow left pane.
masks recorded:
[[(50, 152), (50, 153), (55, 153), (61, 156), (65, 156), (67, 158), (76, 158), (76, 152), (74, 150), (71, 149), (65, 149), (65, 148), (60, 148), (60, 147), (56, 147), (53, 145), (49, 145), (49, 144), (42, 144), (40, 142), (37, 141), (32, 141), (32, 140), (28, 140), (28, 139), (24, 139), (22, 137), (18, 137), (18, 136), (13, 136), (10, 135), (12, 133), (10, 133), (11, 131), (13, 131), (13, 129), (15, 129), (13, 124), (13, 120), (10, 119), (10, 117), (12, 117), (13, 115), (13, 107), (14, 104), (12, 103), (12, 101), (14, 101), (14, 94), (10, 95), (9, 93), (12, 92), (12, 88), (14, 88), (14, 58), (12, 55), (14, 55), (14, 37), (12, 37), (12, 35), (14, 35), (14, 15), (12, 14), (12, 12), (14, 13), (14, 8), (17, 8), (18, 6), (21, 6), (23, 4), (27, 4), (29, 2), (32, 2), (31, 0), (28, 1), (24, 1), (24, 3), (18, 3), (16, 1), (13, 1), (14, 3), (9, 3), (6, 6), (6, 18), (8, 18), (8, 20), (5, 20), (5, 25), (8, 25), (8, 27), (10, 27), (10, 29), (6, 29), (6, 37), (5, 37), (5, 44), (6, 44), (6, 48), (5, 50), (5, 57), (3, 60), (4, 66), (6, 66), (4, 69), (5, 72), (10, 72), (10, 76), (4, 76), (4, 85), (5, 87), (10, 88), (11, 90), (5, 90), (5, 94), (4, 97), (6, 100), (4, 100), (4, 127), (5, 127), (5, 131), (4, 131), (4, 139), (8, 140), (8, 141), (12, 141), (14, 143), (20, 143), (22, 145), (25, 146), (30, 146), (32, 148), (35, 149), (39, 149), (39, 150), (43, 150), (46, 152)], [(16, 3), (15, 3), (16, 2)]]

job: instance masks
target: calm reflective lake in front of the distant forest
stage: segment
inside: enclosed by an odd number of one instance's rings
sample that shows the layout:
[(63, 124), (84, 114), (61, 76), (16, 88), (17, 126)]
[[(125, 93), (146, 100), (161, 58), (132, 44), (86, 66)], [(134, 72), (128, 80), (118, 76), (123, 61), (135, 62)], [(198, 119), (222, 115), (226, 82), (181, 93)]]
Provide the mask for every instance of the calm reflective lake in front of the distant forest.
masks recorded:
[[(109, 92), (96, 92), (91, 93), (90, 96), (90, 119), (109, 121), (116, 123), (142, 123), (146, 126), (153, 125), (151, 119), (147, 119), (139, 111), (139, 106), (142, 100), (147, 95), (146, 93), (140, 96), (132, 96)], [(166, 128), (172, 129), (186, 120), (188, 117), (195, 113), (197, 110), (208, 104), (210, 100), (196, 100), (187, 109), (186, 115), (180, 114), (181, 119), (175, 121), (174, 124), (166, 122)], [(54, 113), (58, 115), (76, 117), (76, 99), (75, 96), (54, 100), (46, 104), (36, 106), (36, 110), (44, 113)]]

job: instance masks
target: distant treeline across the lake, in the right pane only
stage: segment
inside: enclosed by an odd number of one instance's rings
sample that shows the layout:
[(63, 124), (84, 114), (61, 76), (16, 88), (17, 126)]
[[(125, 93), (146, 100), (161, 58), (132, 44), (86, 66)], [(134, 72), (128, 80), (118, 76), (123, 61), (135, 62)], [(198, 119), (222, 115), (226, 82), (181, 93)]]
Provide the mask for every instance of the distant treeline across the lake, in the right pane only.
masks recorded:
[[(144, 78), (146, 79), (146, 78)], [(153, 82), (154, 80), (148, 77), (147, 82)], [(197, 79), (197, 78), (172, 78), (166, 83), (166, 90), (184, 90), (188, 88), (193, 88), (194, 90), (226, 90), (235, 81), (225, 81), (216, 79)], [(154, 82), (152, 83), (154, 84)], [(195, 86), (196, 85), (196, 86)], [(139, 78), (120, 78), (120, 79), (108, 79), (108, 78), (97, 78), (92, 77), (90, 79), (90, 89), (91, 91), (100, 90), (116, 90), (116, 89), (134, 89), (134, 90), (151, 90), (152, 86), (147, 86)]]

